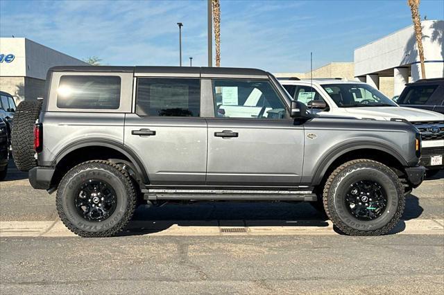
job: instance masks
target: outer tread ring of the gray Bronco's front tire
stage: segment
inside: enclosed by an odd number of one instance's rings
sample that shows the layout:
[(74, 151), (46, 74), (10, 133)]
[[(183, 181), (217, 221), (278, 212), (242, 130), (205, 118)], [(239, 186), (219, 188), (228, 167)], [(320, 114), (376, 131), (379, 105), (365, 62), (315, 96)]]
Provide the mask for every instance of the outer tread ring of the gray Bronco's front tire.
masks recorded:
[(330, 211), (330, 209), (328, 208), (328, 202), (329, 202), (329, 197), (328, 197), (329, 194), (328, 193), (329, 193), (330, 188), (332, 187), (332, 182), (334, 181), (336, 176), (338, 176), (341, 172), (343, 172), (343, 170), (346, 170), (350, 166), (360, 164), (360, 163), (367, 163), (367, 164), (370, 164), (373, 166), (377, 166), (378, 169), (383, 169), (384, 172), (386, 172), (386, 174), (391, 175), (393, 178), (397, 179), (397, 181), (395, 181), (395, 183), (397, 184), (398, 189), (401, 192), (404, 192), (404, 188), (402, 187), (402, 183), (398, 179), (395, 172), (393, 172), (393, 170), (391, 170), (390, 168), (388, 168), (384, 164), (382, 164), (378, 161), (373, 161), (373, 160), (368, 160), (368, 159), (357, 159), (357, 160), (348, 161), (346, 163), (343, 163), (338, 168), (336, 168), (332, 172), (330, 177), (328, 177), (327, 181), (325, 182), (325, 186), (324, 186), (324, 190), (323, 190), (323, 204), (324, 204), (324, 208), (325, 208), (325, 213), (327, 213), (328, 218), (330, 220), (332, 220), (333, 224), (338, 229), (343, 231), (343, 233), (345, 233), (347, 235), (383, 235), (384, 233), (391, 231), (391, 229), (393, 229), (396, 226), (396, 224), (398, 224), (398, 222), (400, 221), (400, 218), (402, 216), (402, 213), (404, 212), (404, 207), (405, 207), (405, 197), (404, 197), (403, 193), (398, 195), (399, 205), (398, 205), (395, 215), (393, 215), (392, 220), (390, 222), (388, 222), (388, 224), (383, 226), (381, 229), (376, 229), (375, 231), (359, 231), (357, 229), (351, 229), (349, 226), (347, 226), (346, 224), (344, 224), (341, 221), (341, 218), (336, 214), (336, 212)]

